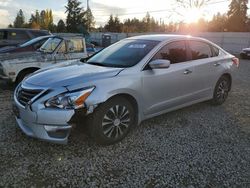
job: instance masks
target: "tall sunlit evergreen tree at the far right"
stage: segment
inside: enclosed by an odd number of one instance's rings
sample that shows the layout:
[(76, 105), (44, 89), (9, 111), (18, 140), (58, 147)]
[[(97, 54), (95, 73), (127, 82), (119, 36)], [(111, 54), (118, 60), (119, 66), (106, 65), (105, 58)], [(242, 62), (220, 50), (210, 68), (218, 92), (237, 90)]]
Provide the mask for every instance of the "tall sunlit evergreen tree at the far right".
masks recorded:
[(229, 5), (228, 31), (238, 32), (247, 30), (247, 3), (248, 0), (232, 0)]

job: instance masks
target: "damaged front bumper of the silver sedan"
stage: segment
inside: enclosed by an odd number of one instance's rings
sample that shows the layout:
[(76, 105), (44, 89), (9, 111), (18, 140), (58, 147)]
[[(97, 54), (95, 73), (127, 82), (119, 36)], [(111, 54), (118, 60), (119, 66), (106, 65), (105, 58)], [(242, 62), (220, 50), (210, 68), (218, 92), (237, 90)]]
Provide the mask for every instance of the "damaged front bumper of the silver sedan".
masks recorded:
[(58, 110), (44, 108), (33, 112), (29, 106), (23, 107), (14, 97), (13, 112), (21, 130), (30, 137), (44, 141), (66, 144), (72, 127), (85, 115), (84, 109)]

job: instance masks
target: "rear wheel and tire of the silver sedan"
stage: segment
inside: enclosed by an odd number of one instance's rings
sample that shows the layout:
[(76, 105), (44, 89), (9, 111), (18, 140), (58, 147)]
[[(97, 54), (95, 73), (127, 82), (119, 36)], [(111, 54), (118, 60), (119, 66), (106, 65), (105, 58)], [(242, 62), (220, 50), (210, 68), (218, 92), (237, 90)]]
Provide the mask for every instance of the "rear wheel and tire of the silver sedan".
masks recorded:
[(228, 93), (230, 91), (230, 85), (231, 82), (227, 76), (222, 76), (217, 81), (212, 99), (212, 103), (214, 105), (221, 105), (226, 101)]

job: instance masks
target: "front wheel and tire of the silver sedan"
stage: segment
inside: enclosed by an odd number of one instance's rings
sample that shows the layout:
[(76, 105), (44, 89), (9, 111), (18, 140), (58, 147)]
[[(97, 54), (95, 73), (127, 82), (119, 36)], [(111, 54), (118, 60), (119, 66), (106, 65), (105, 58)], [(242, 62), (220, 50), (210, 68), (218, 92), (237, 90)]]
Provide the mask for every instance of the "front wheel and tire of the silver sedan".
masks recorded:
[(92, 138), (99, 144), (109, 145), (122, 140), (135, 124), (133, 105), (123, 97), (101, 104), (88, 119)]

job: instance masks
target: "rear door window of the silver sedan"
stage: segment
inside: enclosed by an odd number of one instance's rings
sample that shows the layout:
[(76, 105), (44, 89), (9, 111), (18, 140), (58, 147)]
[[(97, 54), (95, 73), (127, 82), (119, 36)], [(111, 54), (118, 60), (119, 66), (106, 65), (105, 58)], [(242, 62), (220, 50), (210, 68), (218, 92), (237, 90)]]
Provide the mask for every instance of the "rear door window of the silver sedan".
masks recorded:
[(212, 51), (209, 44), (200, 41), (189, 41), (192, 60), (212, 57)]

